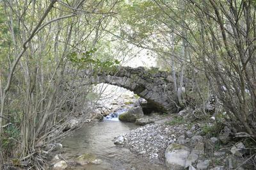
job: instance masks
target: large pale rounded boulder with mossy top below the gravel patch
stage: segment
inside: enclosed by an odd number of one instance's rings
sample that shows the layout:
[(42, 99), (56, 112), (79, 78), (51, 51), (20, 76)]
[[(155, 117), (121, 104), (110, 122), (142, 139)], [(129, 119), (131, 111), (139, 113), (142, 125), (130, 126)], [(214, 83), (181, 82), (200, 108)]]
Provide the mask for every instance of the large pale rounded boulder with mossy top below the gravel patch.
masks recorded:
[(184, 169), (189, 156), (189, 148), (181, 144), (172, 143), (165, 151), (166, 166), (171, 169)]

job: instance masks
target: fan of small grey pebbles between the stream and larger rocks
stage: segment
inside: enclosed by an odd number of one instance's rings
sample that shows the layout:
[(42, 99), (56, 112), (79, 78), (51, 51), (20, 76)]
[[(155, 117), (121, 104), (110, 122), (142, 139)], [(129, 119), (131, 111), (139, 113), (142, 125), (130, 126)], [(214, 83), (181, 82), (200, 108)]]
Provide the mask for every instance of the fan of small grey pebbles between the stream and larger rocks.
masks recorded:
[(164, 124), (148, 124), (123, 134), (124, 143), (120, 146), (128, 148), (150, 162), (164, 164), (164, 152), (169, 144), (177, 141), (184, 132), (184, 126), (170, 127)]

